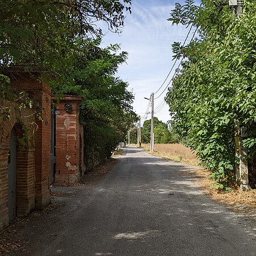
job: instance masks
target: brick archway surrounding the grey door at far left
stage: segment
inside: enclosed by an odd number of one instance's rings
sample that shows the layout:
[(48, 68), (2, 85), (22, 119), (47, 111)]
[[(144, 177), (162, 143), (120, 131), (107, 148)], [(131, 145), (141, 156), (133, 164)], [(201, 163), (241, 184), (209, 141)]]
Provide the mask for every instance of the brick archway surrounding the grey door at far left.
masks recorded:
[[(16, 182), (16, 213), (15, 216), (26, 216), (35, 207), (35, 147), (28, 142), (23, 145), (23, 150), (19, 149), (20, 139), (23, 138), (24, 130), (22, 125), (14, 122), (1, 123), (1, 143), (0, 143), (0, 227), (9, 224), (9, 204), (8, 194), (10, 179)], [(10, 159), (10, 136), (11, 131), (16, 134), (16, 177), (9, 177), (8, 167)], [(29, 135), (28, 135), (29, 136)], [(33, 197), (34, 196), (34, 197)]]

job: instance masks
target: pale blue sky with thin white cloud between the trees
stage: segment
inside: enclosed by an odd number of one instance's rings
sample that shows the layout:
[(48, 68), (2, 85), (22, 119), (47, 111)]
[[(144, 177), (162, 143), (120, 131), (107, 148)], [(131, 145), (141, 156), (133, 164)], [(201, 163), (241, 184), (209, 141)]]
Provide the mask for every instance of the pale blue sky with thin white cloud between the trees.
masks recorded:
[[(151, 118), (151, 107), (148, 111), (150, 113), (145, 115), (148, 101), (144, 97), (150, 98), (150, 94), (155, 93), (163, 84), (174, 64), (171, 45), (177, 41), (183, 43), (189, 31), (184, 26), (172, 26), (167, 20), (176, 2), (183, 4), (184, 0), (133, 0), (132, 14), (127, 15), (121, 36), (108, 32), (102, 40), (102, 47), (118, 43), (122, 51), (129, 53), (127, 64), (122, 64), (118, 69), (118, 76), (129, 83), (129, 90), (133, 90), (134, 111), (141, 115), (142, 123)], [(189, 34), (187, 42), (194, 30)], [(178, 64), (179, 61), (176, 67)], [(163, 103), (167, 93), (164, 88), (174, 72), (175, 68), (155, 94), (154, 115), (163, 122), (170, 119), (168, 106)]]

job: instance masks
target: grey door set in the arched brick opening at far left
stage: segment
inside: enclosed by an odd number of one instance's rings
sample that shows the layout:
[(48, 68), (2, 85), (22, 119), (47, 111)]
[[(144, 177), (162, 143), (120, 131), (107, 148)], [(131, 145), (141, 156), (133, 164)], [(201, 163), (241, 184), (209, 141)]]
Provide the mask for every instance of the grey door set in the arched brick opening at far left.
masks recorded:
[(16, 217), (16, 176), (17, 176), (17, 141), (13, 128), (10, 135), (10, 154), (8, 159), (8, 208), (9, 221)]

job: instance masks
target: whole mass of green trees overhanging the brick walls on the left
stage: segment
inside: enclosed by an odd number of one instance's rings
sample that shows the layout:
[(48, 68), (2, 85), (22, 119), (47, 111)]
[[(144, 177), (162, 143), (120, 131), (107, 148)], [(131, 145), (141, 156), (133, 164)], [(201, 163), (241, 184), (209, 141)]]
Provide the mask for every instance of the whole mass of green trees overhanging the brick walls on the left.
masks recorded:
[[(40, 79), (56, 97), (82, 96), (86, 166), (108, 158), (136, 115), (127, 83), (115, 77), (127, 53), (117, 54), (117, 45), (99, 47), (103, 32), (97, 21), (121, 32), (131, 1), (0, 0), (0, 5), (0, 65), (22, 64), (28, 71), (43, 67)], [(0, 94), (1, 101), (13, 99), (8, 79), (1, 79), (0, 89), (7, 92)]]

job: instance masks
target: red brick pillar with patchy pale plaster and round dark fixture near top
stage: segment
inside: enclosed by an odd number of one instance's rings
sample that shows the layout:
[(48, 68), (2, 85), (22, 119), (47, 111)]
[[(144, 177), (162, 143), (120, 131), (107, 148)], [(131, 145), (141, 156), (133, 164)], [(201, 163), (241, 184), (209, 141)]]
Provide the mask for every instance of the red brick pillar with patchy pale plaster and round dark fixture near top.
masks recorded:
[(56, 105), (56, 182), (77, 183), (80, 178), (81, 97), (65, 96)]

